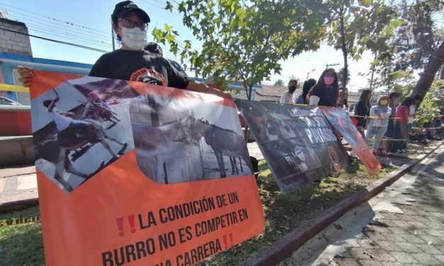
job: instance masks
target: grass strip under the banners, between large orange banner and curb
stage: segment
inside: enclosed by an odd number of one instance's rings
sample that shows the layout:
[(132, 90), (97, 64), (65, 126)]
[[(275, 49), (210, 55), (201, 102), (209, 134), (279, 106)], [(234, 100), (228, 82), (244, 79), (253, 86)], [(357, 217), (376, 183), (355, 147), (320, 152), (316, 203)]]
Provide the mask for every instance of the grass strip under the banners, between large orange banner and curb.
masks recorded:
[(256, 257), (262, 250), (286, 233), (307, 224), (343, 199), (354, 195), (370, 183), (387, 175), (394, 168), (382, 168), (369, 177), (364, 166), (354, 160), (351, 168), (340, 170), (299, 189), (281, 193), (265, 161), (260, 162), (258, 189), (266, 216), (266, 229), (260, 235), (215, 255), (203, 265), (238, 265), (242, 260)]

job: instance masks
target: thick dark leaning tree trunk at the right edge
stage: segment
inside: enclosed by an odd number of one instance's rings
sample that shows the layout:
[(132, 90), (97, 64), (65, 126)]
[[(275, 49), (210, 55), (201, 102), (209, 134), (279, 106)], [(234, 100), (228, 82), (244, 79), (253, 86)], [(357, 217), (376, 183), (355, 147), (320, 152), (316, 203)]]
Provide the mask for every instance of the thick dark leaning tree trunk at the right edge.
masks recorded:
[[(441, 43), (440, 47), (438, 47), (438, 50), (436, 50), (436, 52), (432, 54), (430, 58), (428, 58), (427, 65), (424, 68), (424, 71), (421, 74), (418, 83), (416, 83), (414, 91), (411, 93), (411, 97), (417, 95), (426, 96), (428, 89), (432, 85), (433, 79), (435, 79), (436, 73), (443, 65), (443, 63), (444, 63), (444, 41)], [(419, 105), (416, 106), (418, 107)]]

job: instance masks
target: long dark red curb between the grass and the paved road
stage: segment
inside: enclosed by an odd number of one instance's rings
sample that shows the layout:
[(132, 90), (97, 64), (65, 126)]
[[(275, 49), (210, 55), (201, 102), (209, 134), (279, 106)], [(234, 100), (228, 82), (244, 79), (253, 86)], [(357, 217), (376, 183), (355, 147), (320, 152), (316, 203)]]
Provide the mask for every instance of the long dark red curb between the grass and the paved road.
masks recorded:
[(375, 195), (382, 192), (385, 187), (392, 185), (399, 178), (402, 177), (408, 170), (416, 166), (418, 163), (423, 161), (433, 152), (443, 146), (444, 142), (441, 141), (436, 147), (434, 147), (430, 152), (421, 156), (421, 158), (414, 158), (411, 163), (402, 166), (401, 168), (394, 170), (392, 173), (387, 175), (385, 178), (375, 181), (374, 183), (365, 187), (364, 190), (360, 190), (355, 195), (344, 199), (342, 202), (334, 207), (331, 207), (325, 214), (308, 221), (307, 224), (312, 226), (304, 226), (300, 229), (295, 229), (294, 231), (286, 234), (283, 238), (276, 241), (271, 245), (271, 247), (263, 250), (258, 257), (250, 258), (244, 260), (239, 265), (241, 266), (269, 266), (277, 265), (279, 262), (284, 260), (291, 255), (297, 248), (300, 248), (305, 242), (313, 238), (320, 231), (322, 231), (326, 226), (339, 219), (343, 214), (350, 211), (354, 207), (359, 206), (366, 200), (374, 197)]

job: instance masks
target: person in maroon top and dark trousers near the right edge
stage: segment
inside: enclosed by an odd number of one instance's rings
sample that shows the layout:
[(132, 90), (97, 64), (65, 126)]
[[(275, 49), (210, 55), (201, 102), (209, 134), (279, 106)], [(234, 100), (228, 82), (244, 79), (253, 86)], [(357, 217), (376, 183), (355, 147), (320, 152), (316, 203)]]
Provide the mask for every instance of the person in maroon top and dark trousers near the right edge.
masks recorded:
[(406, 139), (409, 137), (409, 109), (414, 104), (414, 98), (405, 98), (398, 106), (396, 116), (394, 117), (394, 150), (398, 154), (404, 154), (406, 151)]

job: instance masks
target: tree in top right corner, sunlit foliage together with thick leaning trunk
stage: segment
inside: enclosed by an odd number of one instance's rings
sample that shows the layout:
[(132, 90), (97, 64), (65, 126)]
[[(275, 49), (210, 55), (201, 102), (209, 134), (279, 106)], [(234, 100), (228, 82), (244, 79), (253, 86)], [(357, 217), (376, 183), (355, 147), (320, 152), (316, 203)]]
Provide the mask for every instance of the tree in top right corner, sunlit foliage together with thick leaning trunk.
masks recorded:
[(392, 7), (405, 22), (387, 42), (384, 57), (377, 58), (373, 65), (387, 86), (396, 71), (422, 72), (411, 96), (426, 96), (444, 62), (444, 29), (433, 19), (442, 13), (444, 2), (402, 0), (393, 1)]

